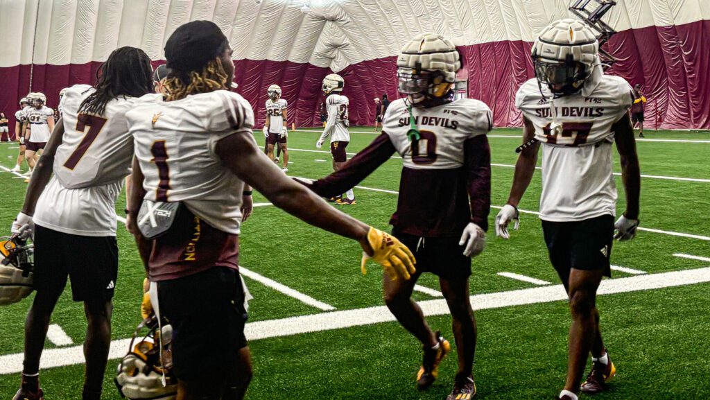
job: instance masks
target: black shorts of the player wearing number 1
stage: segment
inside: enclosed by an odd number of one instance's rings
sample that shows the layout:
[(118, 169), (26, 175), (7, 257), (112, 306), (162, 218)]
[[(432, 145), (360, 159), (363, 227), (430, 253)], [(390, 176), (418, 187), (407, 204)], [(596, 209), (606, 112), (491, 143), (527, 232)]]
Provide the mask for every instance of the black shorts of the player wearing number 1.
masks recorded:
[(239, 272), (217, 266), (158, 282), (160, 315), (173, 326), (173, 371), (190, 381), (224, 372), (246, 346)]

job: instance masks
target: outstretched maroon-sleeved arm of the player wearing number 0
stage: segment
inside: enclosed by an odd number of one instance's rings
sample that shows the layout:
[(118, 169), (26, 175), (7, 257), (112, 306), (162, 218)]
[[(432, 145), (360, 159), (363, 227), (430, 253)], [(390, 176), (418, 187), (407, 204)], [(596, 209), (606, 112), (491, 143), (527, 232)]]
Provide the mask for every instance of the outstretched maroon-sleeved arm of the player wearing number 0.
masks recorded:
[[(388, 134), (380, 134), (371, 144), (341, 166), (338, 171), (307, 185), (318, 195), (332, 198), (353, 188), (395, 153)], [(299, 180), (299, 182), (301, 182)]]

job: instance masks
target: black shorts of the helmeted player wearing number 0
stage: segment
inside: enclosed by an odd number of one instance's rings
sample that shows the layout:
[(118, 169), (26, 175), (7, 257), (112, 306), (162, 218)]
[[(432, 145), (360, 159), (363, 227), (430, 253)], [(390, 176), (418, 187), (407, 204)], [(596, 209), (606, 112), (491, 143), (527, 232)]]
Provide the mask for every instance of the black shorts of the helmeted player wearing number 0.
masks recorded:
[(431, 272), (444, 279), (466, 279), (471, 276), (471, 257), (464, 256), (460, 237), (418, 237), (392, 232), (414, 254), (417, 271)]

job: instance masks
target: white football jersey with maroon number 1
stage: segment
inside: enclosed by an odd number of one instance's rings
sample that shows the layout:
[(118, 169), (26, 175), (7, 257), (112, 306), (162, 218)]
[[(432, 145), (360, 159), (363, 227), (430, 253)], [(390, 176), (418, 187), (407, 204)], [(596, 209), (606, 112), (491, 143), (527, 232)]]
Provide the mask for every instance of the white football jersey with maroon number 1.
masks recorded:
[(126, 117), (145, 176), (146, 199), (184, 202), (212, 227), (239, 234), (244, 182), (224, 167), (214, 149), (235, 133), (253, 140), (249, 102), (226, 90), (173, 102), (163, 101), (162, 94), (146, 94)]

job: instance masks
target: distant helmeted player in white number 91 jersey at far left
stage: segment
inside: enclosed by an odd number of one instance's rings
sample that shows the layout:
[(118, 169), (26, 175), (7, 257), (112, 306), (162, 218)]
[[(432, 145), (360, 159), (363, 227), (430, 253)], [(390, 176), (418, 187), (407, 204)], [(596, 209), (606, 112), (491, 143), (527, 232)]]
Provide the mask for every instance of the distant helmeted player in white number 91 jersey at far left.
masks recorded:
[[(30, 129), (25, 136), (25, 156), (30, 171), (32, 171), (47, 145), (50, 133), (54, 130), (54, 111), (45, 105), (47, 97), (43, 93), (31, 93), (28, 100), (30, 107), (28, 107), (25, 117)], [(25, 182), (27, 183), (29, 180), (25, 180)]]

